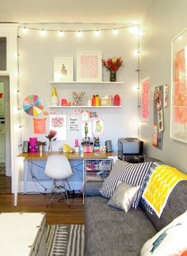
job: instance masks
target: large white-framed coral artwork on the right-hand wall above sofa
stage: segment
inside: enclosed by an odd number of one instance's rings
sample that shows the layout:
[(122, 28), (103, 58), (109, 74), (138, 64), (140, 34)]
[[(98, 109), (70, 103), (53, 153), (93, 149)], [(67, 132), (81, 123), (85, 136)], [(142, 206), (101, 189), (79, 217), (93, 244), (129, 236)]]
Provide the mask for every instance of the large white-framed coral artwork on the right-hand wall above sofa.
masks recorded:
[(170, 137), (187, 143), (187, 29), (171, 41)]

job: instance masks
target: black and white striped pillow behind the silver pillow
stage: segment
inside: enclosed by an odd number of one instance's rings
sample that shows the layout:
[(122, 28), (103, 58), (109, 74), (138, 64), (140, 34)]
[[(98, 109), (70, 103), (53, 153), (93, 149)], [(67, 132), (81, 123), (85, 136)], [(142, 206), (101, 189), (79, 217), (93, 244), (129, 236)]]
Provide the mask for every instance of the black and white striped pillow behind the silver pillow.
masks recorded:
[(144, 162), (140, 164), (130, 164), (126, 161), (117, 160), (109, 176), (106, 178), (101, 187), (101, 195), (107, 198), (113, 196), (118, 181), (127, 182), (134, 186), (140, 186), (139, 192), (135, 196), (132, 208), (137, 208), (140, 197), (143, 193), (143, 181), (147, 171), (150, 169), (152, 162)]

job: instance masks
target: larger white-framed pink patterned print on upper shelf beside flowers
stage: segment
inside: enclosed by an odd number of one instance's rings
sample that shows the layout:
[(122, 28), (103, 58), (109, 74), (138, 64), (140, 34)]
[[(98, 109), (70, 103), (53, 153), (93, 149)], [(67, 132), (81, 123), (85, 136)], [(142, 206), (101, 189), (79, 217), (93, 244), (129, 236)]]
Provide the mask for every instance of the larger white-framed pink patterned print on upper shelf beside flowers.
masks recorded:
[(77, 52), (77, 82), (102, 80), (102, 52)]

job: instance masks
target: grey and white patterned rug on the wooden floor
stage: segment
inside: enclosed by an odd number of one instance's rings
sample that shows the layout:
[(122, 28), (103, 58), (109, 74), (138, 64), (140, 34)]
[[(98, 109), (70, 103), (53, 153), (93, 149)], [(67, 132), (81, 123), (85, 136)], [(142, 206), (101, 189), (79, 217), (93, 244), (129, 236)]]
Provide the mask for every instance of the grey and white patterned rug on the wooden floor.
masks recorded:
[(84, 225), (48, 225), (47, 256), (84, 256)]

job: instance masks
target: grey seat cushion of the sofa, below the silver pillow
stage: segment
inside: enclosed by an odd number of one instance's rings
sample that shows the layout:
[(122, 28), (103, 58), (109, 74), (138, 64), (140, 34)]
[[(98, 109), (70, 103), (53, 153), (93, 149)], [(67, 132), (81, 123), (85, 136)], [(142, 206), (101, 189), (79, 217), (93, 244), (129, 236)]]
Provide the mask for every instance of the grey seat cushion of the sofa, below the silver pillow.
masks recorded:
[(86, 255), (139, 256), (144, 242), (156, 234), (155, 227), (141, 208), (128, 213), (109, 208), (107, 199), (85, 199)]

